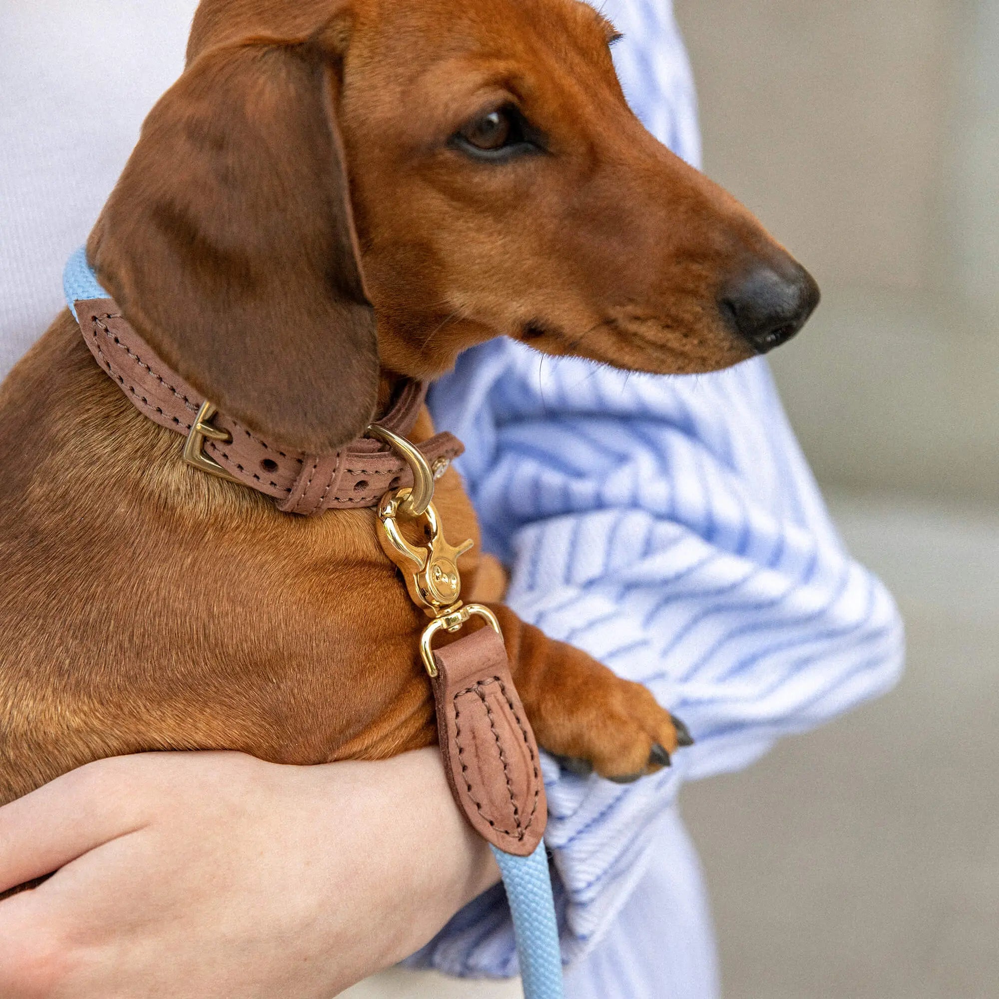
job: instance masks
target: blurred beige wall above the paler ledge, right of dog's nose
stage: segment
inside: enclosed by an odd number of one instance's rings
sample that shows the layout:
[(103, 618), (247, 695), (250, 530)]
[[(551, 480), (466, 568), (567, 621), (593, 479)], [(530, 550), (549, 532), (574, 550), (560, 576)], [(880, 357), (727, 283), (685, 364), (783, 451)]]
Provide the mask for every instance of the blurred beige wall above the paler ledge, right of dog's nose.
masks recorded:
[(820, 480), (999, 500), (999, 5), (676, 7), (707, 172), (825, 293), (774, 355)]

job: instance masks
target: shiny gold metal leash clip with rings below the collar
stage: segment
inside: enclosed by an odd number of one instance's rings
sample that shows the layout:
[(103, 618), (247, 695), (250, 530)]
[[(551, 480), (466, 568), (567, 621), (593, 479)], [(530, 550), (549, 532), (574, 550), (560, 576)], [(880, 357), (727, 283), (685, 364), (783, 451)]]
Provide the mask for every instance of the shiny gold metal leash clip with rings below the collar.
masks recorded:
[[(369, 434), (395, 449), (413, 470), (414, 486), (390, 490), (379, 503), (379, 540), (385, 553), (402, 569), (414, 603), (434, 618), (420, 638), (420, 653), (431, 676), (437, 676), (432, 642), (438, 631), (460, 631), (472, 616), (485, 617), (500, 634), (500, 622), (489, 607), (461, 600), (462, 576), (458, 559), (473, 541), (450, 544), (434, 505), (434, 471), (420, 451), (405, 438), (384, 427), (370, 427)], [(411, 541), (404, 533), (422, 540)]]

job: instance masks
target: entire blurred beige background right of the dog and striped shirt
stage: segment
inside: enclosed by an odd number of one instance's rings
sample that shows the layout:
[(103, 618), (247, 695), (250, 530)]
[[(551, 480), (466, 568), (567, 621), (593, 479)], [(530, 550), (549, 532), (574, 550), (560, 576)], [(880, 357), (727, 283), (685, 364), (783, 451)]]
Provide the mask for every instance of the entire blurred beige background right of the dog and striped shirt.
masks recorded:
[(995, 997), (999, 2), (675, 2), (707, 172), (823, 287), (773, 367), (909, 634), (896, 692), (685, 789), (724, 995)]

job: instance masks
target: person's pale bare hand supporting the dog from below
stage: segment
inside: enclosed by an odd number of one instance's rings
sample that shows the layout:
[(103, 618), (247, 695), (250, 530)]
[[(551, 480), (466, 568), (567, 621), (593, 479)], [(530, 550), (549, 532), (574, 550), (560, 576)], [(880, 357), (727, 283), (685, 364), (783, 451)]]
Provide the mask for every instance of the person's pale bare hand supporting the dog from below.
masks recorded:
[(435, 749), (102, 760), (0, 808), (4, 999), (329, 999), (499, 880)]

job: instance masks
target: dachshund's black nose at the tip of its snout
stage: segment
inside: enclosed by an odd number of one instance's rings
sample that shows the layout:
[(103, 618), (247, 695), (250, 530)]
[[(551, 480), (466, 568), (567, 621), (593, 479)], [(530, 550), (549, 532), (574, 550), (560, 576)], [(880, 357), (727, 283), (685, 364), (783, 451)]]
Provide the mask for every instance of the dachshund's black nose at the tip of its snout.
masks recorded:
[(805, 325), (820, 293), (812, 276), (788, 258), (757, 266), (724, 289), (719, 306), (739, 336), (760, 354), (786, 344)]

